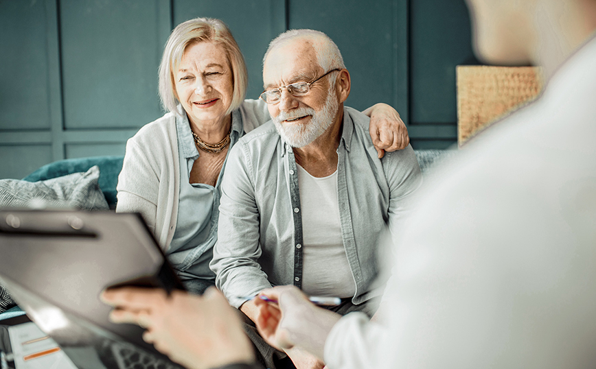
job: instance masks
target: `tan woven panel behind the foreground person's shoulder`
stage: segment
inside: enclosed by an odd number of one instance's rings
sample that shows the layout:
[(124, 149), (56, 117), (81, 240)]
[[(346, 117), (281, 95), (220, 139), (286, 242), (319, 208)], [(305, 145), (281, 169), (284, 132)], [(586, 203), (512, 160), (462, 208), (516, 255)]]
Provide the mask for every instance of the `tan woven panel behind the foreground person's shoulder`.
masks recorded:
[(542, 90), (537, 67), (457, 66), (457, 143), (461, 146)]

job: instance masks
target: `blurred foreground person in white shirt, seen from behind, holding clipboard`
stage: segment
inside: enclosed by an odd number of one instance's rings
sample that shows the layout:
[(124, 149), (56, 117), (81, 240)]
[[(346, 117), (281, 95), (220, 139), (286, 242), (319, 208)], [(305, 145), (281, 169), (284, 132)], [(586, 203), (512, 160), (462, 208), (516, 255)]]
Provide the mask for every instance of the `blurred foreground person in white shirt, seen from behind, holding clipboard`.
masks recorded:
[[(384, 296), (394, 306), (382, 323), (359, 313), (342, 318), (314, 307), (295, 287), (275, 287), (262, 295), (277, 305), (259, 302), (257, 319), (271, 344), (299, 346), (330, 369), (594, 366), (596, 1), (468, 5), (479, 56), (541, 65), (544, 93), (474, 139), (420, 191), (398, 240)], [(143, 317), (150, 341), (170, 343), (166, 351), (187, 364), (215, 360), (198, 345), (171, 344), (181, 331), (162, 322), (174, 320), (171, 311), (177, 319), (201, 317), (207, 307), (185, 311), (181, 302), (210, 307), (220, 294), (167, 300), (153, 291), (163, 309), (139, 314), (129, 292), (108, 295), (120, 307), (114, 320)], [(220, 309), (218, 318), (227, 316), (231, 311)], [(240, 331), (236, 321), (225, 327)], [(220, 355), (214, 364), (250, 363), (242, 342), (213, 337), (211, 345), (238, 348), (236, 357)]]

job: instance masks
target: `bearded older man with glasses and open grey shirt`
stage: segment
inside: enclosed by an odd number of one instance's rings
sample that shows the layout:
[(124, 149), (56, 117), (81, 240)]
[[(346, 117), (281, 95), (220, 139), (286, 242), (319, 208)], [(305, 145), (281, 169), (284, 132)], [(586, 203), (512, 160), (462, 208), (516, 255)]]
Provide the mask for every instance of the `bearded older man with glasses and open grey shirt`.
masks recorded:
[[(414, 152), (409, 146), (378, 159), (369, 119), (343, 107), (349, 73), (321, 32), (273, 40), (263, 80), (273, 121), (229, 154), (210, 263), (216, 285), (253, 321), (251, 296), (288, 284), (343, 298), (339, 313), (371, 316), (383, 285), (375, 281), (379, 237), (387, 224), (399, 232), (406, 200), (422, 182)], [(266, 359), (273, 355), (256, 331), (251, 338)], [(296, 353), (288, 355), (300, 366)]]

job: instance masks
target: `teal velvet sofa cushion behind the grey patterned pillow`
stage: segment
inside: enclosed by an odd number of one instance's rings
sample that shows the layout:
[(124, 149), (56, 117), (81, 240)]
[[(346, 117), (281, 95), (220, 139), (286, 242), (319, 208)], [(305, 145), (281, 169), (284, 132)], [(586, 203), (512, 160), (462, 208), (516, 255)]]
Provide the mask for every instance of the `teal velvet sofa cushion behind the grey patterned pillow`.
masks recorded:
[(89, 156), (88, 158), (58, 160), (44, 165), (23, 178), (23, 180), (28, 182), (47, 180), (71, 173), (84, 172), (93, 165), (97, 165), (100, 167), (100, 189), (102, 189), (110, 208), (114, 209), (116, 205), (116, 185), (118, 184), (118, 175), (122, 170), (123, 160), (124, 156)]

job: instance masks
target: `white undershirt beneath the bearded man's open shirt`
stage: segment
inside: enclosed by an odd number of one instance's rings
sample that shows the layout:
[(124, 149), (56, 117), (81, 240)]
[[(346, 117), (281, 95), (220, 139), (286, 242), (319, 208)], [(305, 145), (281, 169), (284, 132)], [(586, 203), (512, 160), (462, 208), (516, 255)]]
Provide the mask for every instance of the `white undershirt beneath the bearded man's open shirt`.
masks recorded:
[(356, 283), (341, 238), (337, 171), (316, 178), (300, 165), (297, 168), (302, 208), (302, 289), (311, 296), (352, 297)]

